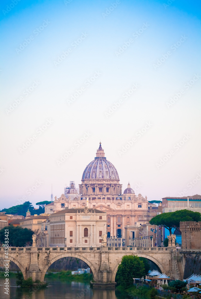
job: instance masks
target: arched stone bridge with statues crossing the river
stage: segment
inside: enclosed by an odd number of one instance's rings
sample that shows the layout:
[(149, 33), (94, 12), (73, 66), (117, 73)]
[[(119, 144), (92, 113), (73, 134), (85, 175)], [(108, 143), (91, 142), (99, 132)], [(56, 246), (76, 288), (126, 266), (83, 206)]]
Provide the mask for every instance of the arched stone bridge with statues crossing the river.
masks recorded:
[[(124, 255), (138, 255), (154, 262), (162, 273), (179, 279), (175, 247), (10, 247), (8, 257), (22, 271), (24, 279), (44, 281), (49, 266), (63, 257), (83, 260), (92, 270), (94, 281), (101, 286), (115, 283), (118, 265)], [(0, 266), (4, 266), (4, 248), (0, 248)]]

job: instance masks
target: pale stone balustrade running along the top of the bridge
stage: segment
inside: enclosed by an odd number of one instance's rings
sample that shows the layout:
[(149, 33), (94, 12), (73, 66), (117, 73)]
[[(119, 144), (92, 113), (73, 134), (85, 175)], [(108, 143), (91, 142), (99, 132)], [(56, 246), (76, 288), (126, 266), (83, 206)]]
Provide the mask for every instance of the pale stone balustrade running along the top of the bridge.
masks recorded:
[[(9, 252), (28, 252), (32, 248), (37, 251), (171, 251), (171, 247), (9, 247)], [(180, 249), (181, 250), (181, 249)], [(4, 247), (0, 247), (0, 251), (4, 251)], [(185, 251), (192, 252), (191, 249), (185, 249)], [(193, 251), (200, 251), (199, 249), (194, 249)], [(181, 252), (181, 251), (180, 251)]]

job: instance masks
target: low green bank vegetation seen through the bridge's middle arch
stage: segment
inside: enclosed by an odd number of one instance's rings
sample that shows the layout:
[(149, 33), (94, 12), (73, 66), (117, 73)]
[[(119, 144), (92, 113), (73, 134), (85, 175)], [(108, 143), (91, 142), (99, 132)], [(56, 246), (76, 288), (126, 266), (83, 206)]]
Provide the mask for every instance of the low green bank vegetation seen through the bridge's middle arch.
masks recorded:
[(60, 271), (57, 273), (48, 272), (45, 274), (45, 278), (60, 278), (65, 280), (75, 280), (75, 281), (91, 281), (93, 280), (92, 274), (83, 273), (83, 274), (71, 274), (71, 271)]

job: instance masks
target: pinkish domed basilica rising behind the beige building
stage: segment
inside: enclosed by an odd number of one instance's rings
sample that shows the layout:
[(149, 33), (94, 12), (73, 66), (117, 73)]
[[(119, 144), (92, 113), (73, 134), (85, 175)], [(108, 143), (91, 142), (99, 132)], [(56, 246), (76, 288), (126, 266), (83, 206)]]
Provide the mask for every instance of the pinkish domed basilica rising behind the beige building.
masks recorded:
[(71, 182), (70, 187), (66, 187), (59, 198), (55, 196), (54, 203), (45, 206), (45, 213), (85, 207), (106, 212), (108, 237), (125, 238), (126, 225), (149, 219), (147, 196), (144, 198), (141, 194), (135, 195), (130, 183), (122, 192), (118, 172), (106, 159), (101, 143), (96, 157), (83, 171), (79, 191), (74, 182)]

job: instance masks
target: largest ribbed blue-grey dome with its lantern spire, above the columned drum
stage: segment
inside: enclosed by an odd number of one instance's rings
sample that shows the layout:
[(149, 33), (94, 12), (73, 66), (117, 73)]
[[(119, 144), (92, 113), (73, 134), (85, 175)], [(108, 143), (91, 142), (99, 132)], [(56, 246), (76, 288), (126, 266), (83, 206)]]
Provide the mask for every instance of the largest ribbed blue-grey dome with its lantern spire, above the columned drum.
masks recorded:
[(96, 157), (85, 168), (82, 180), (85, 179), (114, 179), (119, 181), (119, 175), (114, 165), (106, 160), (104, 150), (100, 146), (97, 149)]

